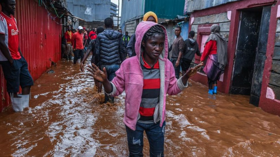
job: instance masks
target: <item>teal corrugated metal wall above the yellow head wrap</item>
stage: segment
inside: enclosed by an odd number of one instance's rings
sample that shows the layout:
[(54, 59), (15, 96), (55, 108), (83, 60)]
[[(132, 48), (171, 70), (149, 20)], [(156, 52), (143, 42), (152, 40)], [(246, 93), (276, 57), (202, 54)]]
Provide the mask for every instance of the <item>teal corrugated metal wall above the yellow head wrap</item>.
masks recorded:
[(185, 0), (146, 0), (145, 13), (153, 11), (160, 19), (175, 19), (184, 14)]

